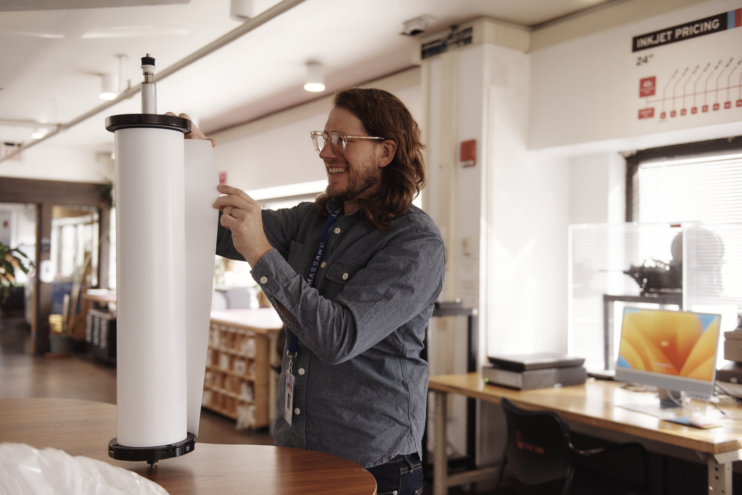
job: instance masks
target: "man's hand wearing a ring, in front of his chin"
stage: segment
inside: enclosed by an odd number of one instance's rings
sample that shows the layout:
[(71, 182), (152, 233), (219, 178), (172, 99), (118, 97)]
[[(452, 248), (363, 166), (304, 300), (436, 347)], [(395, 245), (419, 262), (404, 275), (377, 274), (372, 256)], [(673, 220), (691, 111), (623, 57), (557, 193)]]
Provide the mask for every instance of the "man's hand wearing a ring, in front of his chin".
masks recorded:
[(260, 204), (245, 191), (226, 184), (220, 184), (217, 190), (226, 196), (220, 196), (212, 206), (223, 213), (221, 223), (232, 231), (234, 249), (243, 255), (250, 266), (255, 266), (257, 260), (273, 249), (263, 232)]

